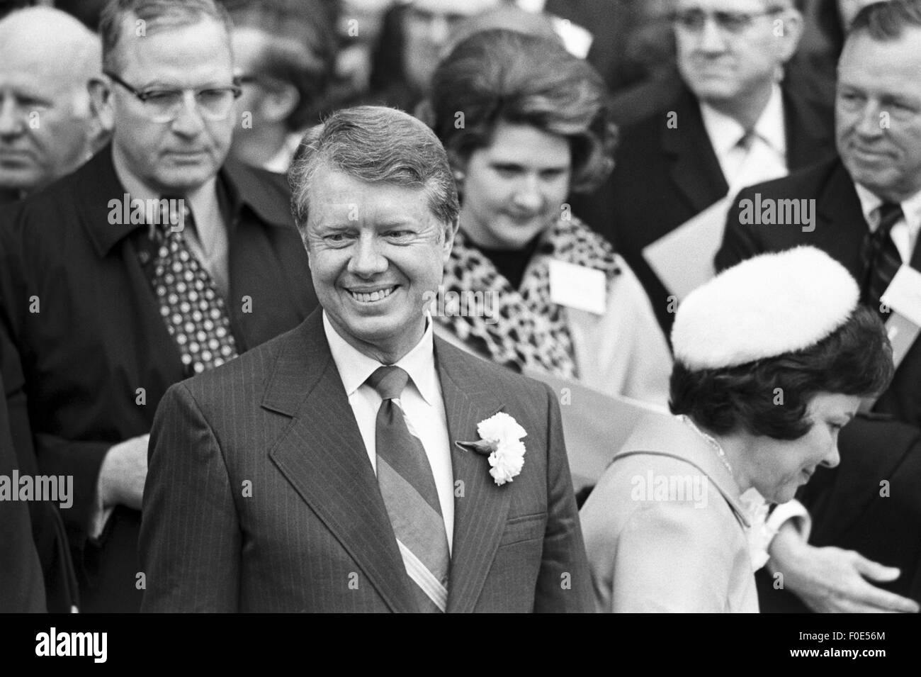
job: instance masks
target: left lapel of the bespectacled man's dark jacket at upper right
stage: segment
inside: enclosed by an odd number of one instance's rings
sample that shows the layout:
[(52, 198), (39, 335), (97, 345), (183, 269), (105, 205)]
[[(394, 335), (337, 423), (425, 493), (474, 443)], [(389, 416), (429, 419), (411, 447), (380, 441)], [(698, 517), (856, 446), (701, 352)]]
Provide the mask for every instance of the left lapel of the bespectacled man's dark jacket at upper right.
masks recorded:
[(662, 151), (670, 157), (670, 179), (698, 214), (729, 192), (717, 154), (706, 134), (697, 100), (685, 91), (675, 104), (677, 129), (663, 121)]

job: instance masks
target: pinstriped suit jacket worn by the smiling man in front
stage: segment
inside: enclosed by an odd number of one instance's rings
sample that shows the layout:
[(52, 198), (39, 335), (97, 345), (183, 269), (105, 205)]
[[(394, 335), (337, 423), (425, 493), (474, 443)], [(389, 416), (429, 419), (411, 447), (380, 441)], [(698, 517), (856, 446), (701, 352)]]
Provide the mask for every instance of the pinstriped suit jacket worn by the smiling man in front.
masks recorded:
[[(321, 317), (167, 391), (144, 496), (144, 611), (414, 611)], [(485, 456), (450, 450), (448, 611), (591, 610), (553, 391), (438, 338), (435, 351), (452, 441), (478, 439), (500, 410), (528, 431), (524, 468), (502, 486)]]

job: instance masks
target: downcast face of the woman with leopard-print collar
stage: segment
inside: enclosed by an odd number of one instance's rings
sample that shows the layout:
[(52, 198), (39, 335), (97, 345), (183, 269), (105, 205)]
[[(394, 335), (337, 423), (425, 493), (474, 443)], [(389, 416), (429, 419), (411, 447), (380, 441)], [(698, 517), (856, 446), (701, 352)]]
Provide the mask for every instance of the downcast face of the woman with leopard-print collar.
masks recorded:
[(565, 136), (527, 124), (496, 124), (490, 146), (472, 151), (461, 185), (461, 228), (474, 243), (523, 249), (560, 216), (572, 153)]

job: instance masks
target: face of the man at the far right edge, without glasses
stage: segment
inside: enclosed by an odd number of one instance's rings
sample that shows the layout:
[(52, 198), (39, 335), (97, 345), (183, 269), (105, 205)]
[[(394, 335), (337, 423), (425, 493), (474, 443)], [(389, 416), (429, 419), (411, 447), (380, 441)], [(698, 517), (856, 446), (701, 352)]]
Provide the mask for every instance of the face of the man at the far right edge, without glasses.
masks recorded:
[(838, 62), (835, 132), (851, 178), (889, 202), (921, 191), (921, 29), (897, 41), (864, 32)]

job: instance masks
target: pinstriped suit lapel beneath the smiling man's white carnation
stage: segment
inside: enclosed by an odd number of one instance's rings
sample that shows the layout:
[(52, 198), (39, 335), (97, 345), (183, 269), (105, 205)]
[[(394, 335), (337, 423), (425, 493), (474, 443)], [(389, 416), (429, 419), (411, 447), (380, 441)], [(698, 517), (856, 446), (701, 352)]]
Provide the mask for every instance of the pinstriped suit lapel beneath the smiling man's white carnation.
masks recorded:
[(472, 370), (472, 362), (477, 358), (464, 356), (439, 338), (435, 352), (448, 418), (455, 485), (448, 612), (469, 613), (493, 564), (505, 529), (512, 488), (508, 484), (495, 484), (485, 456), (461, 449), (455, 442), (479, 439), (477, 424), (498, 412), (502, 403), (486, 390), (488, 382), (479, 370)]

